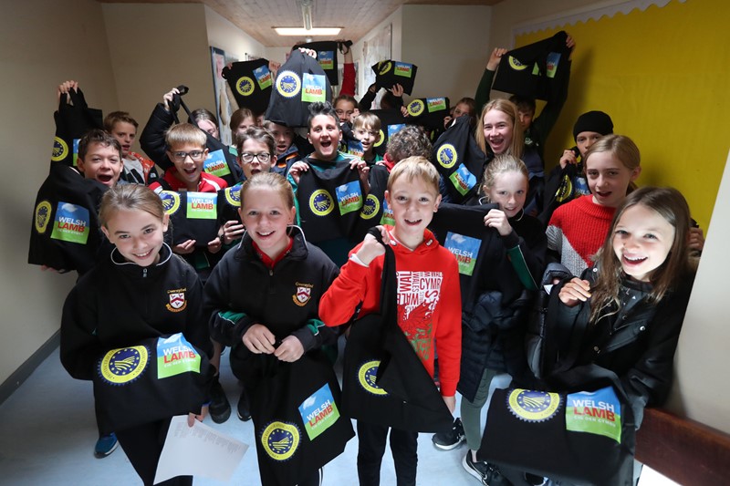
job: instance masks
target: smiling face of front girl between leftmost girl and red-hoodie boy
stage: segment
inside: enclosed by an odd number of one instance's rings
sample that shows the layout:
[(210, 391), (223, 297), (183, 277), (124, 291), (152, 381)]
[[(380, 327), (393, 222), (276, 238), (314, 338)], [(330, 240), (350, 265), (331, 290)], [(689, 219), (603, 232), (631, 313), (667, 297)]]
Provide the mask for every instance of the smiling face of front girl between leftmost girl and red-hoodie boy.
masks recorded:
[(287, 207), (281, 192), (270, 186), (249, 188), (238, 210), (246, 232), (272, 260), (287, 248), (287, 226), (294, 223), (296, 212), (295, 208)]

